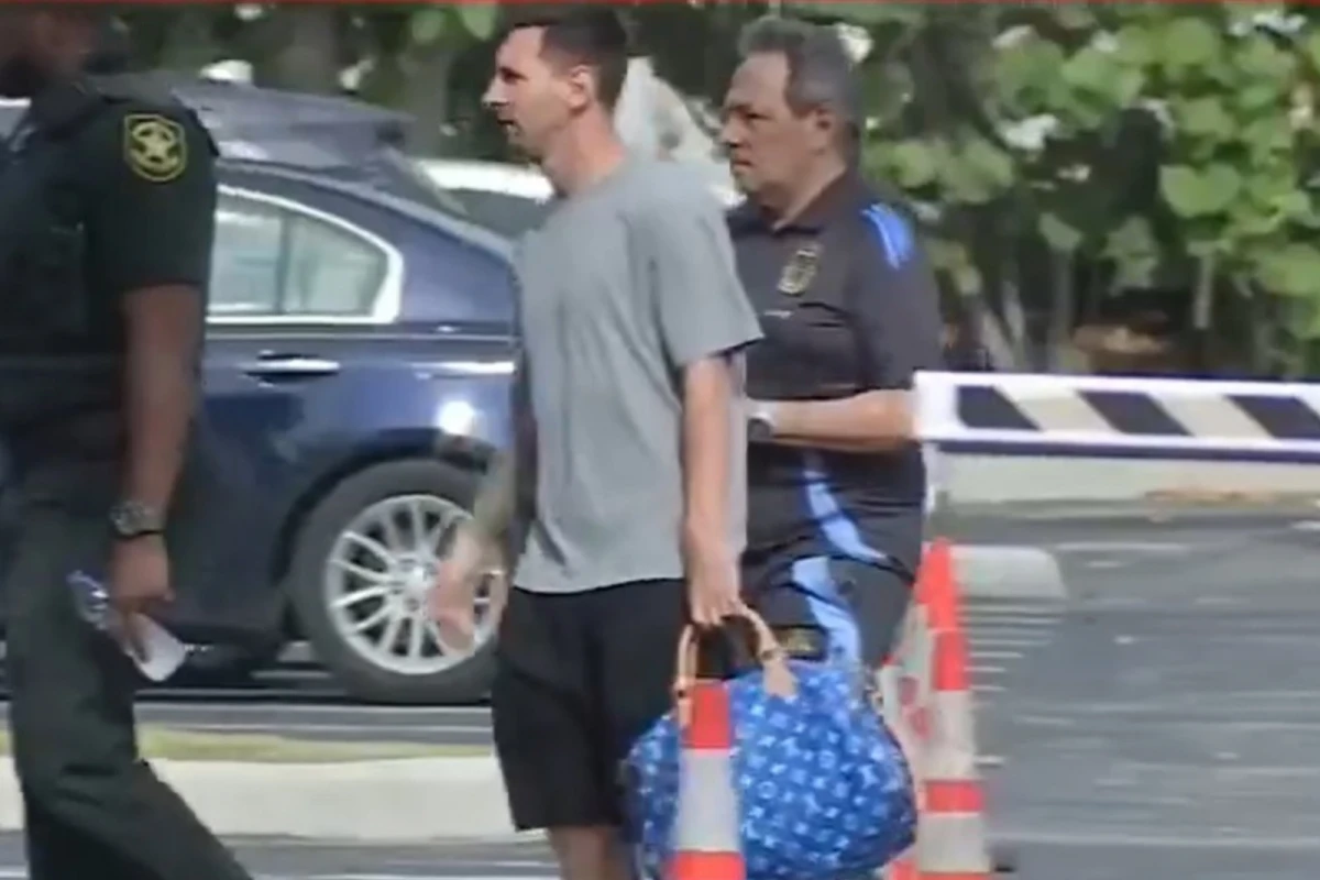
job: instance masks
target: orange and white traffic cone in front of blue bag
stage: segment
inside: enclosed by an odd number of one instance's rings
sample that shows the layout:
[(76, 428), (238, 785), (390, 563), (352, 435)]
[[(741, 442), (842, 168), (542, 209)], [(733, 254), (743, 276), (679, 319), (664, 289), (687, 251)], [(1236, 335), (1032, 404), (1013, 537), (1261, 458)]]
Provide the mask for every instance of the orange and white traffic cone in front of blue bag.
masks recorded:
[(682, 764), (668, 880), (746, 880), (729, 691), (719, 681), (697, 679), (682, 702)]

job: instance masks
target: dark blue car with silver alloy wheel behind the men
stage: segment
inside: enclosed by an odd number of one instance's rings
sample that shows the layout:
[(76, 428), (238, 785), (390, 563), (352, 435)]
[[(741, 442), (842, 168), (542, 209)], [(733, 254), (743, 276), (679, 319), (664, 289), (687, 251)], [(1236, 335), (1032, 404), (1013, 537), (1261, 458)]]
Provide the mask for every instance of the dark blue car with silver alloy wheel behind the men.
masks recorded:
[[(508, 435), (507, 243), (392, 149), (248, 136), (220, 162), (205, 371), (206, 422), (259, 487), (260, 516), (214, 536), (263, 561), (235, 602), (265, 592), (265, 653), (306, 639), (362, 699), (479, 698), (488, 631), (449, 650), (425, 594)], [(207, 588), (224, 610), (223, 583)]]

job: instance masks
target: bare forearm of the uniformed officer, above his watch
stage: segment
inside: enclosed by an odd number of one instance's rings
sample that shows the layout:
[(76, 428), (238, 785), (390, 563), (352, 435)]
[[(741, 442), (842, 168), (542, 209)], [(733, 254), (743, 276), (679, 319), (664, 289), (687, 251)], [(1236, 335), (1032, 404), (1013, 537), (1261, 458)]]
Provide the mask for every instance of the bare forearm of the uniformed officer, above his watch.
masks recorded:
[(128, 443), (123, 491), (157, 511), (165, 511), (174, 493), (198, 400), (202, 302), (198, 290), (181, 286), (124, 297)]

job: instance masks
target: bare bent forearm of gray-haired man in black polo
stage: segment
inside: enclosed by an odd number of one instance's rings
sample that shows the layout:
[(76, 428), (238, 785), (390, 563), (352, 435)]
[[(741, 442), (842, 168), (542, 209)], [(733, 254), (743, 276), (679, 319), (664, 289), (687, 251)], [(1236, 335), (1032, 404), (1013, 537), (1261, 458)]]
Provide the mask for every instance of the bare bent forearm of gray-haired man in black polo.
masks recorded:
[(916, 442), (912, 392), (867, 391), (840, 400), (783, 400), (768, 409), (768, 442), (840, 453), (890, 453)]

